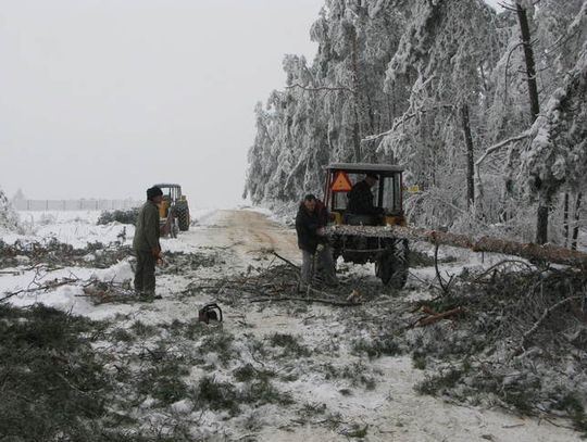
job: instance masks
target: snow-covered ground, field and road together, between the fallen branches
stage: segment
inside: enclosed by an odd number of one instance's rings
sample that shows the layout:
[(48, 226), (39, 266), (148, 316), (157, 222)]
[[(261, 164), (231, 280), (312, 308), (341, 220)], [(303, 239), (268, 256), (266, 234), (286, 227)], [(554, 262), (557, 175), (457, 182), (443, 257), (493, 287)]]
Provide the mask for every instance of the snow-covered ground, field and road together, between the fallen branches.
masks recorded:
[[(1, 239), (7, 243), (30, 243), (55, 238), (74, 248), (85, 248), (95, 242), (112, 243), (112, 247), (128, 247), (132, 243), (133, 226), (117, 223), (98, 226), (98, 215), (92, 212), (23, 213), (21, 218), (27, 224), (29, 235), (3, 235)], [(211, 280), (236, 277), (250, 271), (252, 266), (265, 264), (270, 261), (267, 250), (275, 250), (282, 256), (299, 263), (295, 232), (268, 220), (261, 211), (202, 210), (192, 213), (192, 218), (195, 222), (189, 231), (183, 232), (177, 239), (163, 239), (162, 248), (167, 254), (209, 256), (213, 263), (190, 268), (177, 268), (167, 263), (159, 268), (158, 293), (162, 299), (153, 303), (96, 304), (84, 295), (84, 282), (92, 278), (103, 282), (129, 281), (133, 277), (130, 256), (108, 268), (88, 265), (54, 270), (32, 267), (30, 263), (22, 260), (18, 266), (1, 270), (0, 293), (25, 290), (11, 296), (8, 302), (16, 306), (43, 303), (92, 319), (109, 319), (113, 321), (112, 327), (126, 330), (140, 321), (162, 330), (164, 337), (168, 333), (165, 327), (177, 321), (196, 320), (199, 306), (214, 300), (210, 292), (199, 287), (209, 286)], [(88, 262), (91, 263), (92, 258), (88, 257)], [(444, 266), (442, 271), (459, 273), (464, 264), (470, 267), (488, 266), (491, 262), (488, 256), (482, 261), (482, 256), (463, 254), (459, 262)], [(364, 277), (373, 269), (371, 265), (365, 265), (348, 271)], [(432, 267), (414, 270), (409, 282), (409, 295), (427, 296), (423, 281), (434, 277)], [(73, 281), (48, 291), (26, 292), (26, 289), (63, 278), (72, 278)], [(185, 294), (186, 290), (189, 290), (189, 295)], [(386, 302), (386, 299), (376, 302)], [(234, 416), (217, 409), (199, 409), (193, 397), (167, 405), (145, 397), (137, 409), (128, 411), (145, 426), (147, 422), (152, 426), (162, 415), (173, 415), (174, 419), (192, 422), (192, 437), (203, 440), (579, 440), (573, 430), (547, 421), (483, 407), (461, 406), (417, 394), (414, 384), (424, 379), (424, 372), (413, 368), (409, 356), (369, 359), (351, 352), (345, 320), (345, 315), (351, 313), (328, 305), (310, 304), (290, 308), (283, 304), (242, 304), (238, 301), (227, 303), (223, 308), (225, 321), (217, 332), (221, 337), (229, 337), (232, 358), (223, 361), (226, 355), (223, 356), (215, 349), (204, 354), (199, 345), (208, 339), (207, 336), (196, 344), (175, 342), (178, 351), (200, 352), (203, 357), (202, 365), (191, 367), (185, 382), (195, 386), (210, 371), (216, 381), (235, 382), (232, 374), (251, 365), (259, 372), (267, 370), (275, 374), (275, 388), (291, 402), (287, 405), (278, 402), (242, 405), (241, 413)], [(296, 337), (303, 348), (309, 349), (311, 356), (303, 354), (296, 357), (285, 353), (280, 356), (276, 348), (253, 351), (257, 344), (266, 343), (275, 333)], [(140, 345), (154, 345), (159, 338), (149, 338)], [(97, 344), (97, 349), (100, 349), (100, 344)], [(123, 358), (122, 353), (115, 354), (116, 346), (109, 349), (114, 352), (114, 363)], [(134, 350), (127, 349), (129, 352)], [(338, 375), (326, 376), (327, 371)]]

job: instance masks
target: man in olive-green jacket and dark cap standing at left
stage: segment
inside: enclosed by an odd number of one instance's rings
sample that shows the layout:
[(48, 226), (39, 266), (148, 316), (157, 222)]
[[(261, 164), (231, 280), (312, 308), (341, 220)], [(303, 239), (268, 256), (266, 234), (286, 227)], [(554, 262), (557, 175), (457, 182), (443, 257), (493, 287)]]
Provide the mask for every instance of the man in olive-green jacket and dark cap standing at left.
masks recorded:
[(133, 249), (137, 254), (135, 270), (135, 291), (147, 299), (153, 299), (155, 292), (154, 268), (161, 260), (159, 243), (159, 207), (163, 192), (159, 187), (147, 189), (147, 202), (139, 211)]

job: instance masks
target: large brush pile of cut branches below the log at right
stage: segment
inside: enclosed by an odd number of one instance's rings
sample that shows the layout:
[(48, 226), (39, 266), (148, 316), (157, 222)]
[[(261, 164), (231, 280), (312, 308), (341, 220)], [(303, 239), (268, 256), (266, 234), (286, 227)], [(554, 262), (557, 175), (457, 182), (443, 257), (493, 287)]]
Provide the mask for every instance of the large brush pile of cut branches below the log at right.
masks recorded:
[[(421, 301), (416, 312), (398, 339), (405, 338), (402, 342), (426, 367), (422, 391), (523, 414), (566, 416), (587, 428), (576, 402), (587, 394), (582, 269), (503, 261), (463, 274), (449, 295)], [(451, 319), (452, 327), (425, 327), (440, 319)]]

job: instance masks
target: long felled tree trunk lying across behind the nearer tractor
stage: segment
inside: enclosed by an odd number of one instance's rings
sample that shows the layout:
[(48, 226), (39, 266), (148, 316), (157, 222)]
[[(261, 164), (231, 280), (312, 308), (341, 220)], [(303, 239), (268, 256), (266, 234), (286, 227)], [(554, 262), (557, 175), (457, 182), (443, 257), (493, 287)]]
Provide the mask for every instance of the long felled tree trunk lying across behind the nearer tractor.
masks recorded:
[(526, 260), (542, 261), (587, 269), (587, 253), (552, 244), (539, 245), (533, 242), (522, 243), (499, 238), (472, 238), (438, 230), (400, 226), (332, 226), (327, 233), (353, 235), (371, 238), (401, 238), (411, 241), (426, 241), (433, 244), (471, 249), (474, 252), (502, 253), (521, 256)]

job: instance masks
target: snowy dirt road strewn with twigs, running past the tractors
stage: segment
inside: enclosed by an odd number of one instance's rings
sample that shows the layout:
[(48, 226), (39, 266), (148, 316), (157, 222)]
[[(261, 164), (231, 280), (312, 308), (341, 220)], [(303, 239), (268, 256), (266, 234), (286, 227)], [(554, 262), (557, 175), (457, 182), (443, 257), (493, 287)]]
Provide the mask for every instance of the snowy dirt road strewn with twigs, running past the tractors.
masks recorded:
[[(272, 250), (295, 262), (300, 257), (292, 229), (252, 211), (215, 212), (182, 240), (199, 250), (209, 247), (225, 251), (225, 265), (213, 269), (222, 278), (251, 264), (263, 265)], [(372, 275), (371, 268), (364, 271)], [(366, 281), (378, 283), (375, 278)], [(195, 298), (190, 303), (199, 300)], [(578, 440), (573, 431), (536, 419), (417, 394), (414, 386), (425, 379), (425, 372), (413, 368), (408, 355), (365, 359), (353, 345), (362, 339), (358, 340), (358, 336), (369, 336), (373, 330), (367, 326), (349, 331), (345, 318), (350, 312), (341, 308), (304, 303), (238, 303), (227, 306), (226, 312), (224, 331), (239, 337), (238, 348), (249, 349), (232, 364), (252, 364), (255, 369), (282, 374), (274, 384), (294, 401), (289, 407), (265, 405), (251, 411), (249, 418), (254, 420), (255, 431), (239, 430), (235, 421), (230, 424), (232, 438), (242, 431), (241, 435), (251, 434), (250, 440), (276, 442), (339, 441), (349, 437), (408, 442)], [(309, 353), (260, 358), (250, 352), (252, 346), (261, 345), (259, 342), (266, 346), (276, 333), (290, 337)], [(221, 377), (227, 375), (225, 369), (220, 372)], [(210, 418), (208, 424), (214, 427)]]

